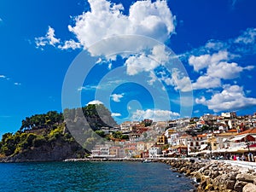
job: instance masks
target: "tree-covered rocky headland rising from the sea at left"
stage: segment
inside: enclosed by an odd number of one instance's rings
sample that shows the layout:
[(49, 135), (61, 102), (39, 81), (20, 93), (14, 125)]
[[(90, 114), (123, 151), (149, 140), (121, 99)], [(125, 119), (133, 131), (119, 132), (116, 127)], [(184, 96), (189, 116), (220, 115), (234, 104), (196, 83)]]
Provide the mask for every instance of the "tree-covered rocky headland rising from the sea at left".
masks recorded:
[[(82, 148), (75, 141), (67, 129), (66, 121), (74, 121), (78, 117), (78, 109), (66, 109), (64, 114), (49, 111), (44, 114), (35, 114), (22, 120), (19, 131), (3, 134), (0, 142), (0, 161), (23, 162), (23, 161), (51, 161), (65, 160), (67, 158), (83, 158), (90, 152)], [(83, 125), (79, 126), (84, 137), (93, 137), (94, 131), (102, 127), (116, 125), (111, 113), (103, 105), (88, 105), (80, 111), (83, 112), (91, 129), (86, 131)], [(65, 116), (65, 119), (64, 119)], [(88, 136), (88, 134), (90, 134)], [(87, 139), (93, 142), (93, 139)]]

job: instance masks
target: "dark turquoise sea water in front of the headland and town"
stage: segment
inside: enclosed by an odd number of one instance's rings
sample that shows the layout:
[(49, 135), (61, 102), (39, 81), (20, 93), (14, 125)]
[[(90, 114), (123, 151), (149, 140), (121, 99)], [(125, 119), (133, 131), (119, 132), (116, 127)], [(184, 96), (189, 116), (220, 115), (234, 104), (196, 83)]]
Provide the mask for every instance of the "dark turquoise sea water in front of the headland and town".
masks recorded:
[[(170, 166), (140, 162), (0, 163), (0, 191), (173, 191), (194, 189)], [(180, 176), (180, 175), (179, 175)]]

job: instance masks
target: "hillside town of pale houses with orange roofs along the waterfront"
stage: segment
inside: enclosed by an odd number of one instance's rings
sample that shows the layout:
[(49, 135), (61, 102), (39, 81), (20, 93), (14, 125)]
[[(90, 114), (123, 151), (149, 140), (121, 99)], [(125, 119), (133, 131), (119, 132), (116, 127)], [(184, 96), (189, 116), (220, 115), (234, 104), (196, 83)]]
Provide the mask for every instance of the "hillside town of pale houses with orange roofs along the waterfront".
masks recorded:
[(197, 118), (154, 122), (125, 121), (105, 134), (121, 132), (129, 139), (96, 145), (90, 158), (158, 158), (197, 156), (207, 159), (255, 161), (256, 113), (204, 114)]

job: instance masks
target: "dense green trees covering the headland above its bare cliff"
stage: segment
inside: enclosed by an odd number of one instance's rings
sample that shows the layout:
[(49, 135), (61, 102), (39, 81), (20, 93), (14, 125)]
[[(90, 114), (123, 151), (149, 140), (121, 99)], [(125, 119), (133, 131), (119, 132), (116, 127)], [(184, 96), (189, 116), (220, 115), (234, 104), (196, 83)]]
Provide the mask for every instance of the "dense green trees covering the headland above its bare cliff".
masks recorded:
[[(73, 120), (77, 122), (77, 119), (81, 117), (78, 111), (78, 109), (66, 109), (64, 115), (49, 111), (48, 113), (26, 117), (22, 120), (19, 131), (3, 134), (0, 142), (0, 157), (14, 156), (45, 145), (55, 146), (56, 144), (76, 143), (70, 131), (67, 130), (66, 121)], [(115, 122), (111, 113), (103, 105), (88, 105), (82, 108), (82, 111), (93, 129), (86, 130), (84, 127), (79, 127), (82, 130), (82, 136), (86, 138), (83, 141), (83, 147), (86, 148), (94, 144), (96, 133), (105, 137), (100, 131), (102, 127), (115, 125)]]

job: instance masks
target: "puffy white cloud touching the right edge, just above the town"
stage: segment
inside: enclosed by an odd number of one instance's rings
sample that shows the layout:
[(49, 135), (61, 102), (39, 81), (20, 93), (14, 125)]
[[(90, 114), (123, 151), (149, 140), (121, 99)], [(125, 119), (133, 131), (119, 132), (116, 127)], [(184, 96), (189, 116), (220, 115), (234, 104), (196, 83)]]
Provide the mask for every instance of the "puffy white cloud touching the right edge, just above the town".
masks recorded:
[(224, 86), (224, 90), (214, 94), (210, 100), (203, 96), (195, 102), (206, 105), (214, 112), (220, 112), (255, 106), (256, 98), (246, 97), (242, 87), (228, 84)]

